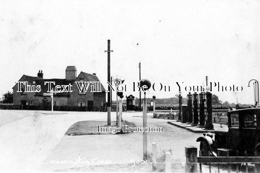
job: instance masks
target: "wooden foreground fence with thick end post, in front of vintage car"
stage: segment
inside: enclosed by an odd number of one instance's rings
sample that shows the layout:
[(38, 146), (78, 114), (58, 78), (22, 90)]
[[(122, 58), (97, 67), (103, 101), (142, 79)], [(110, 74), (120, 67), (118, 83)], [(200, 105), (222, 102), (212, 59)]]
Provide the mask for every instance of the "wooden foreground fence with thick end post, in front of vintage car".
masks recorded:
[(248, 164), (255, 164), (254, 171), (255, 173), (259, 173), (260, 171), (260, 157), (231, 157), (228, 156), (218, 156), (218, 157), (198, 157), (197, 148), (190, 146), (185, 147), (186, 154), (186, 164), (185, 164), (185, 172), (186, 173), (197, 173), (198, 172), (198, 164), (200, 167), (200, 173), (202, 173), (202, 164), (208, 164), (209, 173), (212, 172), (211, 164), (217, 164), (218, 173), (220, 173), (220, 164), (227, 165), (228, 173), (231, 172), (230, 165), (236, 164), (236, 172), (239, 173), (239, 164), (245, 163), (245, 172), (248, 173)]

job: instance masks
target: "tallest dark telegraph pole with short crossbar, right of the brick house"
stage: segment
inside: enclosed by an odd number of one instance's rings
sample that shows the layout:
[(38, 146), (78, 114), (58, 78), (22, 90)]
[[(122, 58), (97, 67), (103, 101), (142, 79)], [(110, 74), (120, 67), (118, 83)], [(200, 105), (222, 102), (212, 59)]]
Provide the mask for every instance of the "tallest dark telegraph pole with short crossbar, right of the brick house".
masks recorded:
[[(110, 39), (107, 40), (107, 82), (110, 81), (110, 52), (113, 52), (110, 50)], [(108, 86), (107, 90), (107, 125), (111, 125), (111, 98), (110, 98), (111, 88)]]

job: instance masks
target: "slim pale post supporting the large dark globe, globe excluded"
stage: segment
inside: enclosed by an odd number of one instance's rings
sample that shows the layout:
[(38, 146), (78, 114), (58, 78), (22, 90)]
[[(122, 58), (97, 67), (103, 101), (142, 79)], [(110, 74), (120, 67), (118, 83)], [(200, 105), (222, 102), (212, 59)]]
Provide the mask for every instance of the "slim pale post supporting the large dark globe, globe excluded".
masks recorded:
[[(146, 98), (145, 98), (145, 92), (144, 92), (144, 98), (143, 98), (143, 107), (142, 107), (142, 120), (143, 120), (143, 128), (145, 129), (147, 127), (147, 113), (146, 113)], [(147, 132), (143, 131), (143, 160), (147, 160)]]

